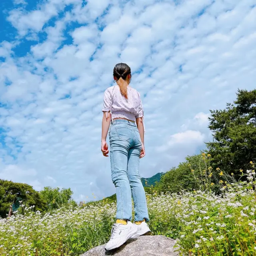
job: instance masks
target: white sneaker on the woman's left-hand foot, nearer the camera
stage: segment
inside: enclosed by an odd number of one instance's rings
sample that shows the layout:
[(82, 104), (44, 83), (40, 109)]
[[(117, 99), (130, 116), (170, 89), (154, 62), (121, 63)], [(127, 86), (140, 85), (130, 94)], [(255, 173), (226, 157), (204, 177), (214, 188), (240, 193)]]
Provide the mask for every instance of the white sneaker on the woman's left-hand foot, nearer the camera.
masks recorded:
[(132, 222), (127, 221), (126, 225), (115, 223), (111, 230), (111, 237), (105, 246), (105, 250), (112, 250), (124, 244), (134, 233), (137, 228)]

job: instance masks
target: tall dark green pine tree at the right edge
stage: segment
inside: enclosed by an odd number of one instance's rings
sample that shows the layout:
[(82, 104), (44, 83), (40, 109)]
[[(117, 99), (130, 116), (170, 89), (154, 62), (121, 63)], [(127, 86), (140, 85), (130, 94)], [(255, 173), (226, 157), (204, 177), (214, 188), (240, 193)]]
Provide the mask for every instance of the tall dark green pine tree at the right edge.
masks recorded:
[(233, 172), (250, 168), (256, 161), (256, 90), (238, 90), (234, 104), (224, 110), (210, 110), (209, 128), (213, 142), (206, 143), (213, 168)]

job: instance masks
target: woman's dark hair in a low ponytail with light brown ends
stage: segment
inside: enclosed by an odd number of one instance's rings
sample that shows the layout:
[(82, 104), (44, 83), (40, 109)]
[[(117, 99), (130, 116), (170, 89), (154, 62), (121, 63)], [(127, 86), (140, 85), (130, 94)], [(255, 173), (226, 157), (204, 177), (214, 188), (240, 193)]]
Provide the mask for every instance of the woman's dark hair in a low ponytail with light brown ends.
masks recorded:
[(128, 74), (130, 74), (130, 81), (131, 81), (131, 78), (132, 78), (131, 68), (127, 64), (118, 63), (114, 67), (113, 76), (116, 77), (117, 79), (116, 83), (120, 88), (120, 92), (122, 96), (124, 96), (124, 98), (126, 99), (128, 99), (128, 96), (127, 96), (128, 83), (126, 81), (126, 77), (128, 76)]

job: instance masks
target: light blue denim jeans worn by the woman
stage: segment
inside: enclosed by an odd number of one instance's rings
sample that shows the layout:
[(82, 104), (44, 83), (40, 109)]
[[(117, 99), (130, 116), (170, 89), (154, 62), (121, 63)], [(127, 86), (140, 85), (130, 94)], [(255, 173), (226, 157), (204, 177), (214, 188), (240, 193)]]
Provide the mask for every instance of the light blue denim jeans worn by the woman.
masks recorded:
[(114, 120), (109, 139), (112, 181), (116, 186), (116, 218), (132, 220), (133, 198), (135, 221), (148, 221), (146, 196), (139, 174), (142, 142), (138, 128), (128, 120)]

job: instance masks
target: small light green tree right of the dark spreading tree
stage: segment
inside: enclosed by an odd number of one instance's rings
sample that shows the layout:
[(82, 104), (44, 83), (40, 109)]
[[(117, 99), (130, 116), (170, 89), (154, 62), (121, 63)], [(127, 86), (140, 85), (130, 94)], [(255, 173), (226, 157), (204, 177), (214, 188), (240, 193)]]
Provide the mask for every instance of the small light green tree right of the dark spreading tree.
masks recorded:
[(39, 192), (42, 198), (46, 201), (47, 211), (56, 210), (63, 206), (77, 206), (72, 199), (72, 190), (70, 188), (51, 188), (44, 187), (44, 190)]

